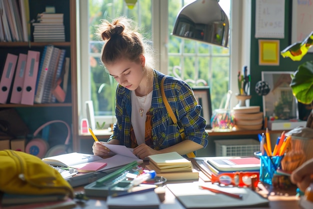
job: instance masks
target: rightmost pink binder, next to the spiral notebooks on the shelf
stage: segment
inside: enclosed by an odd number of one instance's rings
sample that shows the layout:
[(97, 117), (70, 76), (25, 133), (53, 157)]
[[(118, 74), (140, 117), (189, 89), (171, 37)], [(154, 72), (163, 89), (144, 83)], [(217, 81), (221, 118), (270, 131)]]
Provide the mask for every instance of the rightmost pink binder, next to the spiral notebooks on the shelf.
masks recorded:
[(28, 50), (21, 104), (33, 105), (40, 52)]

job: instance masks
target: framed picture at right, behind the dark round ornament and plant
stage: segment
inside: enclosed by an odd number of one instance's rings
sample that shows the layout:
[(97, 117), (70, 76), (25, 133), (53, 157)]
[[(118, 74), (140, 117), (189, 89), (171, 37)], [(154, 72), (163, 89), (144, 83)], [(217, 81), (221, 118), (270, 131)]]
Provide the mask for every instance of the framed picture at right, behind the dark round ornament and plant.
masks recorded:
[(262, 71), (262, 81), (265, 81), (270, 91), (263, 96), (264, 117), (277, 119), (298, 119), (297, 100), (289, 86), (291, 82), (289, 71)]

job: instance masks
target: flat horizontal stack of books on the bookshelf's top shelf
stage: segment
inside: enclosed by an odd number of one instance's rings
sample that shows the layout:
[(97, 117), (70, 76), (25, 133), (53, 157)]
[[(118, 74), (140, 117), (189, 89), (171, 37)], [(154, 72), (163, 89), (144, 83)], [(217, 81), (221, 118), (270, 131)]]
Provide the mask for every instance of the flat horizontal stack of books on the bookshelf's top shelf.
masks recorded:
[(62, 13), (40, 13), (32, 26), (34, 42), (65, 42)]

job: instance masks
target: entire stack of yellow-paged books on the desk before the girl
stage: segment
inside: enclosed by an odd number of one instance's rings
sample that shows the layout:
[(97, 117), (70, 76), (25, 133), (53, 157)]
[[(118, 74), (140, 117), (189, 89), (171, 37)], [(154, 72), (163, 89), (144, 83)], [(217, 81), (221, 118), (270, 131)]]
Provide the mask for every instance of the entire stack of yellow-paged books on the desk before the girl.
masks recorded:
[(167, 180), (198, 180), (199, 173), (193, 169), (191, 161), (177, 152), (149, 155), (148, 170), (155, 170), (156, 176)]

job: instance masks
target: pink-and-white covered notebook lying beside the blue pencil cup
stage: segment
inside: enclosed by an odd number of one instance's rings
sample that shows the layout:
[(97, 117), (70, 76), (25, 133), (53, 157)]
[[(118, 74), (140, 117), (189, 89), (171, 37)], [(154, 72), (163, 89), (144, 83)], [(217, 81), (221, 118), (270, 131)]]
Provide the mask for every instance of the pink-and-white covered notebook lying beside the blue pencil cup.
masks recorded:
[(259, 170), (260, 160), (254, 156), (206, 157), (206, 162), (219, 171)]

